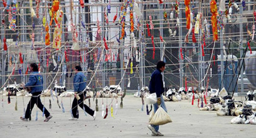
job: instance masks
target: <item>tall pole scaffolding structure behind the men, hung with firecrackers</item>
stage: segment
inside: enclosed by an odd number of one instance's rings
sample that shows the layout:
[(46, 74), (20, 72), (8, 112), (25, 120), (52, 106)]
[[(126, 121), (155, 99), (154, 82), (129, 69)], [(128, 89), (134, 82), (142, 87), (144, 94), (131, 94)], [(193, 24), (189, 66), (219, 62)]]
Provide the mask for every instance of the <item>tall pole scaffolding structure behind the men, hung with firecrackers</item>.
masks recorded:
[[(140, 90), (148, 86), (157, 61), (163, 60), (166, 62), (164, 72), (166, 88), (197, 87), (198, 90), (210, 86), (222, 88), (225, 85), (223, 78), (228, 77), (225, 74), (227, 68), (225, 53), (237, 56), (240, 63), (237, 68), (239, 68), (244, 66), (242, 55), (247, 41), (251, 40), (252, 50), (256, 46), (255, 39), (252, 40), (248, 33), (248, 30), (253, 31), (255, 24), (255, 16), (253, 16), (255, 1), (247, 1), (245, 6), (242, 1), (232, 1), (233, 11), (228, 13), (230, 19), (226, 18), (225, 13), (218, 16), (218, 21), (221, 21), (218, 23), (220, 25), (218, 41), (213, 41), (210, 2), (211, 0), (195, 0), (189, 5), (194, 16), (191, 21), (193, 27), (198, 13), (202, 14), (201, 26), (205, 30), (208, 25), (210, 26), (210, 34), (206, 34), (206, 31), (203, 33), (200, 29), (195, 35), (197, 42), (193, 43), (192, 33), (188, 36), (189, 42), (184, 42), (188, 33), (184, 1), (164, 0), (159, 4), (159, 0), (98, 0), (85, 1), (82, 8), (80, 1), (63, 0), (60, 1), (63, 19), (61, 47), (58, 49), (52, 48), (56, 25), (54, 21), (49, 26), (51, 45), (45, 45), (46, 31), (43, 17), (49, 24), (53, 1), (40, 2), (38, 18), (36, 16), (31, 18), (29, 1), (17, 1), (19, 6), (17, 12), (13, 14), (16, 16), (15, 31), (9, 29), (9, 21), (11, 21), (8, 19), (9, 13), (3, 11), (4, 5), (0, 2), (0, 18), (4, 20), (0, 34), (1, 86), (3, 88), (13, 83), (14, 78), (18, 83), (26, 82), (29, 75), (28, 65), (35, 62), (40, 65), (41, 74), (46, 80), (44, 88), (52, 88), (53, 82), (57, 80), (58, 85), (63, 85), (65, 82), (66, 87), (72, 89), (72, 78), (75, 76), (72, 75), (72, 68), (81, 65), (90, 87), (120, 85), (128, 90)], [(239, 10), (235, 9), (235, 3)], [(128, 4), (126, 8), (125, 4)], [(228, 4), (225, 4), (227, 9)], [(135, 5), (139, 8), (141, 16), (137, 15)], [(219, 8), (219, 1), (217, 7)], [(32, 3), (32, 8), (36, 9), (35, 1)], [(124, 8), (126, 16), (120, 18), (124, 14)], [(131, 31), (131, 13), (134, 15), (132, 19), (134, 31)], [(117, 19), (113, 21), (115, 15)], [(70, 29), (71, 19), (77, 29), (80, 50), (71, 50), (74, 43)], [(149, 29), (151, 36), (148, 35), (147, 24), (153, 26)], [(100, 33), (97, 33), (99, 29)], [(120, 39), (122, 33), (125, 33), (124, 39)], [(35, 34), (35, 41), (32, 34)], [(203, 34), (206, 37), (205, 41)], [(4, 50), (4, 38), (7, 40), (8, 50)], [(205, 46), (202, 46), (204, 43)], [(217, 55), (220, 55), (220, 59), (216, 58)], [(22, 56), (24, 63), (20, 63), (19, 56)], [(230, 62), (233, 66), (234, 60)], [(242, 72), (240, 92), (243, 92), (243, 67), (238, 71)], [(238, 74), (233, 72), (230, 76), (234, 79)]]

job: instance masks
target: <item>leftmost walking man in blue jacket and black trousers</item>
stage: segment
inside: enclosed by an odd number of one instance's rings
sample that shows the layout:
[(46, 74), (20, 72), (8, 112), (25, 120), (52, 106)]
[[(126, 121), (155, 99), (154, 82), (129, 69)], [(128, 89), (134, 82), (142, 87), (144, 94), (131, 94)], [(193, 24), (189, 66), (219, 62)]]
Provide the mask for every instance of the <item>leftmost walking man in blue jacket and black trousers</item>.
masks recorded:
[(29, 70), (31, 74), (29, 75), (28, 83), (24, 85), (24, 88), (30, 91), (29, 93), (32, 94), (32, 97), (28, 103), (25, 116), (20, 117), (20, 119), (28, 121), (29, 116), (31, 117), (32, 109), (36, 104), (42, 112), (45, 112), (46, 119), (44, 121), (48, 122), (53, 116), (50, 115), (50, 112), (48, 112), (41, 103), (40, 95), (43, 91), (43, 77), (38, 73), (38, 65), (36, 65), (36, 63), (31, 63)]

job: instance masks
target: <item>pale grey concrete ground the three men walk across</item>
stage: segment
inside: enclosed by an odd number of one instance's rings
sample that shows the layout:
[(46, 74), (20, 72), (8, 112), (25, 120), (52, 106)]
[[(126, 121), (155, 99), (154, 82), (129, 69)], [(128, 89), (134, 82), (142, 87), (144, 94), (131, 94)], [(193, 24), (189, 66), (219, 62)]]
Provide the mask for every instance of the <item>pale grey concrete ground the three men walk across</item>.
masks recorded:
[[(55, 98), (55, 97), (54, 97)], [(85, 116), (82, 109), (79, 109), (80, 118), (77, 121), (70, 121), (70, 100), (73, 97), (63, 98), (63, 105), (66, 112), (58, 108), (55, 100), (51, 100), (50, 110), (53, 118), (49, 122), (43, 122), (42, 112), (38, 110), (38, 121), (35, 121), (36, 106), (32, 112), (32, 120), (23, 122), (19, 119), (23, 115), (23, 98), (18, 97), (18, 110), (14, 110), (16, 97), (11, 97), (11, 104), (7, 104), (7, 97), (4, 99), (4, 108), (0, 107), (0, 137), (152, 137), (147, 129), (149, 116), (141, 111), (141, 98), (133, 95), (126, 95), (124, 108), (117, 111), (117, 115), (111, 117), (110, 107), (107, 119), (101, 117), (102, 98), (99, 98), (99, 112), (96, 120)], [(24, 97), (25, 106), (30, 98)], [(45, 106), (49, 109), (49, 97), (45, 99)], [(61, 98), (59, 98), (61, 102)], [(237, 97), (236, 100), (240, 100)], [(86, 101), (88, 104), (88, 100)], [(107, 99), (104, 98), (104, 104)], [(118, 98), (120, 105), (120, 98)], [(110, 98), (108, 99), (108, 104)], [(114, 100), (113, 107), (115, 107)], [(91, 98), (91, 107), (95, 109), (95, 102)], [(166, 102), (168, 114), (173, 120), (172, 123), (161, 125), (159, 131), (164, 137), (255, 137), (256, 125), (230, 124), (233, 117), (220, 117), (215, 111), (200, 111), (191, 100), (181, 102)]]

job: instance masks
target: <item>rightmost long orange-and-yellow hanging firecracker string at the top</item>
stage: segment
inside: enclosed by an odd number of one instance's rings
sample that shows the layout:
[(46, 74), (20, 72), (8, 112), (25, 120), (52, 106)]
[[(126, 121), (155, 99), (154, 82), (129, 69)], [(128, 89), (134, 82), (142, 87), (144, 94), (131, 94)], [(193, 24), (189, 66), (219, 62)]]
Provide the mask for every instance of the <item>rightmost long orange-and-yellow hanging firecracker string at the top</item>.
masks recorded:
[(216, 6), (216, 1), (212, 0), (210, 3), (210, 9), (211, 9), (211, 26), (213, 28), (213, 40), (217, 41), (218, 40), (218, 28), (217, 28), (217, 6)]

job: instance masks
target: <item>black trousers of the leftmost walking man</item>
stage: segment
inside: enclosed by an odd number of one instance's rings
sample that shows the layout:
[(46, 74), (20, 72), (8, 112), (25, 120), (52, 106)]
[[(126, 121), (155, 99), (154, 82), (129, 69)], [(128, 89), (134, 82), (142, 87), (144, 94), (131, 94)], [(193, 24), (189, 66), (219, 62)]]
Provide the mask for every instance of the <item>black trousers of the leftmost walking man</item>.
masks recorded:
[[(33, 96), (38, 96), (40, 95), (41, 92), (35, 92), (35, 93), (32, 93)], [(40, 99), (40, 96), (38, 97), (31, 97), (29, 103), (28, 103), (28, 106), (27, 106), (27, 109), (26, 109), (26, 114), (25, 114), (25, 118), (28, 119), (29, 118), (29, 115), (31, 114), (32, 112), (32, 109), (34, 107), (34, 105), (37, 105), (38, 108), (43, 112), (43, 104), (41, 103), (41, 99)], [(45, 117), (49, 117), (50, 116), (50, 113), (48, 112), (48, 110), (45, 108)]]

